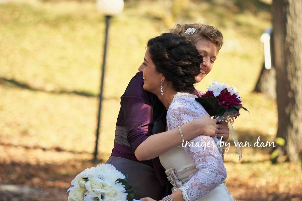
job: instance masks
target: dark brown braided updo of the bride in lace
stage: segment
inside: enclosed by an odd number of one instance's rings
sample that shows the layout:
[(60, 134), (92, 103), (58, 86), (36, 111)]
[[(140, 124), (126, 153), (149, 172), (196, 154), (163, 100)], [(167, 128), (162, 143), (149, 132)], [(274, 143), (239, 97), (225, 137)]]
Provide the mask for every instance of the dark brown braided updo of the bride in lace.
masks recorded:
[(184, 36), (164, 33), (148, 41), (149, 55), (159, 73), (177, 92), (193, 93), (203, 57)]

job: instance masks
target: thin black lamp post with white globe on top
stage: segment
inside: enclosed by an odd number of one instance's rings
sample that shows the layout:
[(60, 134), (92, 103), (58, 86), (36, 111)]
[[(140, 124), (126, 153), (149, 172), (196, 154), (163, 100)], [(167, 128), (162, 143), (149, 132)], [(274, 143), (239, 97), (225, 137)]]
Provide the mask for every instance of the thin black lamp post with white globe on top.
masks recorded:
[(93, 162), (97, 163), (98, 161), (98, 139), (101, 123), (101, 114), (102, 114), (102, 100), (103, 100), (103, 86), (104, 86), (104, 77), (105, 77), (105, 64), (106, 64), (106, 52), (107, 52), (107, 43), (108, 43), (108, 30), (110, 18), (113, 15), (120, 13), (124, 8), (123, 0), (97, 0), (98, 10), (105, 15), (106, 29), (105, 29), (105, 41), (104, 41), (104, 54), (103, 54), (103, 65), (102, 65), (102, 76), (100, 82), (100, 93), (99, 93), (99, 105), (98, 105), (98, 123), (96, 130), (96, 140), (95, 148), (93, 154)]

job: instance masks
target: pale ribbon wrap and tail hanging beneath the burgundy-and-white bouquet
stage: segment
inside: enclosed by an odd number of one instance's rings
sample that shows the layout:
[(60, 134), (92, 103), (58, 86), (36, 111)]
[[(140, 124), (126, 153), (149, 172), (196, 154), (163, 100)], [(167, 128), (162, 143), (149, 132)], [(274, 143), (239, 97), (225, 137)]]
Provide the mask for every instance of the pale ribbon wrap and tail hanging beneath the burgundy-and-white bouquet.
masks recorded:
[[(227, 122), (227, 128), (229, 128), (229, 131), (232, 135), (232, 139), (234, 141), (234, 144), (236, 146), (236, 150), (237, 150), (237, 153), (239, 155), (239, 161), (242, 157), (242, 154), (241, 154), (241, 149), (240, 149), (240, 146), (239, 146), (239, 143), (238, 143), (238, 138), (236, 136), (236, 133), (235, 133), (235, 130), (233, 128), (233, 123), (234, 123), (234, 117), (238, 117), (239, 116), (239, 112), (238, 111), (226, 111), (222, 116), (219, 116), (219, 117), (216, 117), (215, 119), (217, 119), (217, 122), (220, 122), (220, 121), (226, 121)], [(231, 128), (229, 127), (229, 124), (231, 125)]]

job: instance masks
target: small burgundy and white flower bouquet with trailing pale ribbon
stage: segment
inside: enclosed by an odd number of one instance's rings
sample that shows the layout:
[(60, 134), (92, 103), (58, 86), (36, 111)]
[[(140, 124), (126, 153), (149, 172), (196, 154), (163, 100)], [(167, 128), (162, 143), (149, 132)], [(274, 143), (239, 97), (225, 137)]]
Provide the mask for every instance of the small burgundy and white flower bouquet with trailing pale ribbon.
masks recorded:
[[(221, 84), (214, 80), (207, 88), (207, 92), (201, 97), (195, 99), (201, 103), (211, 117), (215, 117), (217, 119), (217, 122), (226, 121), (228, 123), (228, 128), (230, 123), (232, 129), (229, 128), (229, 130), (240, 160), (242, 154), (232, 123), (234, 122), (234, 118), (236, 119), (239, 116), (240, 109), (244, 109), (246, 111), (247, 109), (241, 104), (241, 97), (239, 96), (238, 90), (234, 86), (230, 87), (225, 83)], [(222, 150), (220, 150), (220, 152), (222, 152)]]

